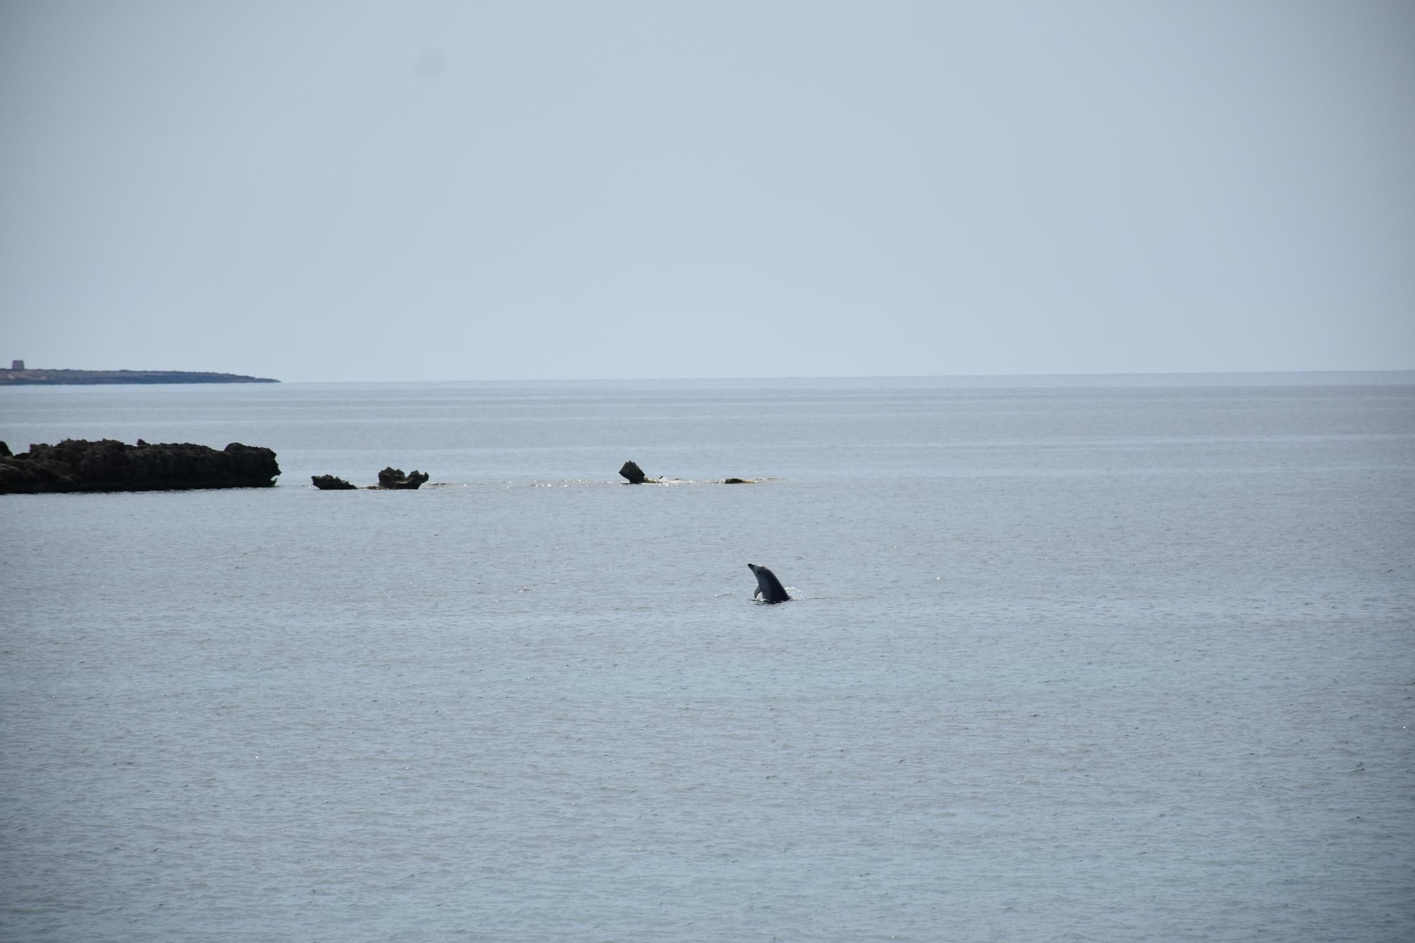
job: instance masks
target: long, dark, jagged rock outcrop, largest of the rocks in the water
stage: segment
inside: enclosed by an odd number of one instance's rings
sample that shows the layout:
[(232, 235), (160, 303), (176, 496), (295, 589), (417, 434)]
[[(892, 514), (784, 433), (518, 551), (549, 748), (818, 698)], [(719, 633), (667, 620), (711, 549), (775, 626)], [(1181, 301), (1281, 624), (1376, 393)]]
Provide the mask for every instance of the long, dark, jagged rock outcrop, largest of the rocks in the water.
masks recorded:
[(269, 488), (280, 467), (275, 452), (232, 443), (222, 451), (191, 443), (127, 445), (112, 438), (67, 438), (0, 455), (0, 495), (75, 491), (187, 491)]

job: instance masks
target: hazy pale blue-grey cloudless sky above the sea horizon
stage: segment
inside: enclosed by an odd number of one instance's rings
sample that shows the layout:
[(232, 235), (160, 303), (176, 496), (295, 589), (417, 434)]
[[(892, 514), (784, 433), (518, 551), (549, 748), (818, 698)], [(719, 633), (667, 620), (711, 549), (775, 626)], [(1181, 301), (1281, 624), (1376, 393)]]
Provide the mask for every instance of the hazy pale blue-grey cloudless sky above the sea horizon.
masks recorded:
[(1415, 368), (1415, 3), (0, 0), (0, 359)]

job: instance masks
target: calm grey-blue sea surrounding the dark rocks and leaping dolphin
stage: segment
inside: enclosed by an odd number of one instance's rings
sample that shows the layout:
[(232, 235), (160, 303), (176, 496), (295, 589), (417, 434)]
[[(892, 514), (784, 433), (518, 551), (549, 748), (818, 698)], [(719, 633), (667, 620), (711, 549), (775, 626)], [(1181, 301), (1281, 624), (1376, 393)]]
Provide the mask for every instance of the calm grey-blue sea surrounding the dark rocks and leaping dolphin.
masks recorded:
[(1415, 939), (1415, 373), (0, 390), (61, 438), (282, 475), (0, 496), (3, 940)]

